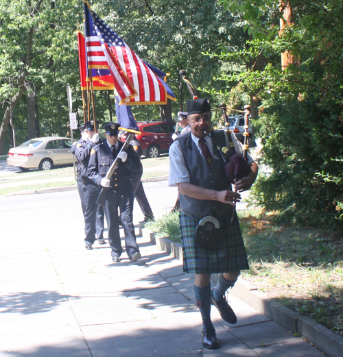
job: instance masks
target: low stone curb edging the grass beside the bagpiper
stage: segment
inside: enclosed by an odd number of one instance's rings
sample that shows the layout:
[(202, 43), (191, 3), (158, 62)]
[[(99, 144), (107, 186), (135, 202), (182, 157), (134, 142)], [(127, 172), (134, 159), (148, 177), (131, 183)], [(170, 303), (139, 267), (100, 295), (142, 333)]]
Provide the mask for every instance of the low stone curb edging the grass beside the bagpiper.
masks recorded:
[[(169, 238), (158, 237), (156, 233), (142, 228), (142, 236), (150, 239), (152, 244), (163, 249), (174, 258), (182, 261), (182, 244), (174, 243)], [(282, 306), (278, 302), (267, 297), (255, 286), (238, 278), (235, 286), (230, 290), (235, 297), (256, 308), (263, 315), (270, 317), (276, 323), (294, 334), (300, 334), (306, 341), (313, 343), (320, 351), (330, 357), (342, 357), (343, 337), (335, 334), (328, 328), (320, 325), (309, 317), (300, 316), (296, 312)]]

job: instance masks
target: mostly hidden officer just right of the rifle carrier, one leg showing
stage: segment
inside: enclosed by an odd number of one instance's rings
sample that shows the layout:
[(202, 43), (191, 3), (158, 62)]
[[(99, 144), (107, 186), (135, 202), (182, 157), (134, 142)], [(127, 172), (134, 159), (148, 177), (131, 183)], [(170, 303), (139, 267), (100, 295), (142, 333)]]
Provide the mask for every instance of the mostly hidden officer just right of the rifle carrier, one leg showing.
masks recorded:
[(139, 141), (136, 139), (132, 139), (130, 145), (132, 145), (134, 151), (137, 153), (137, 156), (139, 157), (139, 169), (137, 173), (134, 173), (131, 176), (131, 183), (133, 186), (134, 198), (137, 199), (139, 207), (141, 208), (144, 214), (144, 219), (140, 223), (145, 223), (147, 221), (153, 221), (154, 214), (152, 213), (152, 209), (150, 207), (149, 201), (147, 201), (147, 197), (145, 195), (143, 184), (141, 181), (143, 175), (143, 165), (141, 163), (142, 148), (141, 145), (139, 144)]

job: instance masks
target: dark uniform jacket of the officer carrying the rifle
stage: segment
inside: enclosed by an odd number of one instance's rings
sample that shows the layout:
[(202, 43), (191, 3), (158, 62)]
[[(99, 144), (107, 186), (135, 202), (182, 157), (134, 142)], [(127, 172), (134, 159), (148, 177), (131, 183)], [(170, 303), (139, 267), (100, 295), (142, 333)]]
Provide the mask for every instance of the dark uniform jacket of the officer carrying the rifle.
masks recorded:
[[(123, 147), (123, 143), (118, 141), (117, 153), (119, 153), (121, 147)], [(126, 162), (121, 162), (121, 160), (119, 160), (119, 165), (115, 173), (110, 177), (110, 187), (115, 191), (132, 189), (130, 176), (137, 173), (139, 169), (139, 158), (131, 145), (128, 145), (126, 153), (128, 153)], [(112, 151), (110, 151), (110, 147), (108, 147), (106, 140), (94, 147), (91, 150), (91, 156), (89, 157), (88, 162), (88, 178), (95, 182), (95, 184), (100, 185), (100, 182), (106, 176), (106, 173), (108, 173), (110, 166), (113, 164), (116, 157), (117, 155), (113, 156)]]

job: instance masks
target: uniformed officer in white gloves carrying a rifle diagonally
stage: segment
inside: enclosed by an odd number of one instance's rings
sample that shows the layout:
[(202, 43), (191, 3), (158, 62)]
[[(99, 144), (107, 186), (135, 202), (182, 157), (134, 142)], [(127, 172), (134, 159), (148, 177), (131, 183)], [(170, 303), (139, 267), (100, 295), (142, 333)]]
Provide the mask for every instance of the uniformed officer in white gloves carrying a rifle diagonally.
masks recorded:
[[(108, 123), (102, 129), (105, 130), (106, 140), (91, 151), (87, 174), (95, 184), (109, 188), (106, 193), (104, 210), (108, 225), (108, 243), (110, 243), (112, 249), (113, 262), (119, 262), (122, 253), (118, 208), (125, 234), (126, 253), (130, 261), (134, 262), (141, 258), (141, 254), (132, 222), (134, 195), (130, 176), (138, 171), (139, 158), (131, 145), (128, 145), (126, 152), (119, 152), (123, 147), (123, 143), (118, 140), (119, 124)], [(106, 173), (117, 157), (120, 159), (118, 167), (112, 177), (106, 179)]]

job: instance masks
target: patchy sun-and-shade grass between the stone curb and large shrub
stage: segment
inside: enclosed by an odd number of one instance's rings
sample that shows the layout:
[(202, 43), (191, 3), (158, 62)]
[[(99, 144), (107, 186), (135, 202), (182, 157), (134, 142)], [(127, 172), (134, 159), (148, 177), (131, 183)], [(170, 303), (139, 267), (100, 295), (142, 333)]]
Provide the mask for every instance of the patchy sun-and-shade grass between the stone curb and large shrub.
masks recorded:
[(241, 217), (250, 270), (242, 277), (300, 315), (343, 335), (342, 234)]

